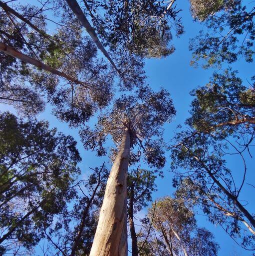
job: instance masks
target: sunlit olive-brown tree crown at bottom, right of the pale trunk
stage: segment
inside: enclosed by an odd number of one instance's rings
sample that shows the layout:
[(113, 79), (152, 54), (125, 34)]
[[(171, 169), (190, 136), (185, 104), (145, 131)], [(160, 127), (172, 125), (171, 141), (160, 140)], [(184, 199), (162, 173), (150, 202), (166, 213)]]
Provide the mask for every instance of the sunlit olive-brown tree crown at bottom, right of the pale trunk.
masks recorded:
[(179, 198), (166, 196), (148, 209), (139, 244), (140, 255), (216, 256), (219, 245), (214, 235), (197, 225), (192, 208)]

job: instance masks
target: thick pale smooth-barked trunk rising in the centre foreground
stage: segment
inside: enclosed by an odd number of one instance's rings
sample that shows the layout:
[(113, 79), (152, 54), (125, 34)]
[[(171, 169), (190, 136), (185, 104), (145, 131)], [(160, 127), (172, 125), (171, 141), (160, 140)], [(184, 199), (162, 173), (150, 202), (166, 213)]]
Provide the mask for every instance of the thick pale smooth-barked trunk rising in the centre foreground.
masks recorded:
[(130, 155), (130, 133), (122, 137), (106, 184), (103, 204), (90, 256), (127, 255), (127, 171)]

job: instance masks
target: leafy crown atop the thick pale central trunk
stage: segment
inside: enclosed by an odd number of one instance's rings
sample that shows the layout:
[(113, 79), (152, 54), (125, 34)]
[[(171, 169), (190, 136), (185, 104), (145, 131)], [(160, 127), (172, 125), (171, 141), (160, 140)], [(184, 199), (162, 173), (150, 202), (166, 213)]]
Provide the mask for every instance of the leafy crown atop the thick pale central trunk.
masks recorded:
[[(136, 95), (123, 95), (116, 99), (111, 109), (98, 117), (95, 129), (88, 126), (81, 130), (80, 135), (85, 148), (97, 150), (98, 155), (106, 153), (104, 143), (107, 135), (119, 145), (125, 129), (131, 136), (131, 145), (140, 146), (144, 159), (157, 168), (166, 162), (162, 125), (171, 121), (175, 114), (170, 93), (165, 89), (153, 92), (150, 87), (142, 86)], [(144, 141), (144, 144), (142, 142)]]

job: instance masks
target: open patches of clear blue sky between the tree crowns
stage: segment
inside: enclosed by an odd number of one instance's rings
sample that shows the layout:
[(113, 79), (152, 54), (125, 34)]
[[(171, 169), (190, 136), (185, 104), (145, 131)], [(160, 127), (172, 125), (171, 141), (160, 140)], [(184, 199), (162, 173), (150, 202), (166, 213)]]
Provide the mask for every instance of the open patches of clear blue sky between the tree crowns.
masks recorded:
[[(29, 2), (29, 1), (28, 1)], [(31, 2), (31, 1), (30, 1)], [(198, 34), (198, 31), (202, 28), (202, 25), (192, 20), (189, 11), (188, 0), (177, 0), (178, 7), (183, 9), (180, 12), (182, 16), (185, 34), (180, 38), (174, 37), (174, 45), (176, 47), (175, 52), (162, 59), (147, 59), (145, 61), (145, 71), (148, 76), (148, 82), (155, 90), (159, 87), (166, 88), (172, 95), (174, 105), (177, 110), (177, 115), (171, 124), (165, 126), (165, 138), (170, 140), (174, 136), (174, 131), (178, 124), (184, 124), (185, 119), (189, 116), (189, 108), (192, 97), (190, 91), (199, 85), (204, 85), (209, 81), (210, 76), (213, 73), (213, 69), (203, 69), (201, 67), (194, 68), (190, 66), (191, 52), (188, 50), (189, 39)], [(250, 80), (253, 75), (254, 63), (248, 64), (242, 58), (232, 65), (233, 69), (238, 69), (240, 76), (245, 80)], [(1, 110), (10, 109), (6, 105), (0, 106)], [(85, 151), (80, 142), (77, 129), (71, 129), (65, 123), (59, 122), (51, 113), (50, 106), (47, 106), (45, 112), (40, 113), (38, 119), (48, 120), (50, 127), (57, 127), (58, 131), (62, 131), (65, 134), (72, 135), (78, 142), (78, 149), (80, 151), (82, 162), (79, 167), (82, 171), (82, 176), (88, 176), (89, 167), (99, 166), (103, 161), (108, 161), (107, 157), (98, 158), (95, 156), (95, 152)], [(254, 151), (254, 150), (253, 150)], [(170, 153), (168, 153), (169, 155)], [(255, 155), (255, 154), (254, 154)], [(248, 178), (255, 180), (254, 172), (254, 160), (249, 158), (248, 160)], [(110, 168), (110, 163), (107, 163)], [(229, 166), (238, 173), (242, 168), (241, 161), (238, 158), (230, 158)], [(167, 194), (172, 194), (174, 189), (172, 187), (172, 174), (170, 170), (170, 161), (167, 162), (164, 168), (165, 177), (163, 179), (157, 179), (158, 191), (153, 193), (153, 199)], [(250, 181), (252, 183), (252, 181)], [(254, 188), (251, 187), (246, 190), (243, 197), (250, 201), (247, 206), (253, 210), (255, 205), (255, 199), (253, 193)], [(143, 215), (146, 210), (143, 210), (139, 215)], [(219, 256), (241, 256), (251, 255), (251, 252), (245, 251), (239, 247), (221, 227), (216, 227), (207, 221), (207, 217), (200, 214), (197, 215), (198, 224), (207, 227), (211, 230), (216, 238), (216, 241), (220, 244), (221, 249)], [(236, 253), (236, 254), (235, 254)], [(205, 255), (206, 256), (206, 255)]]

